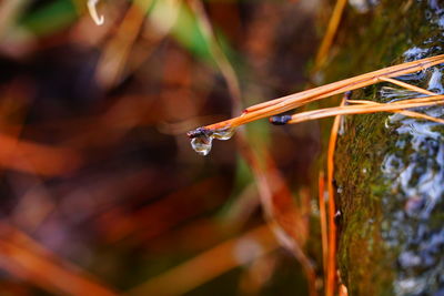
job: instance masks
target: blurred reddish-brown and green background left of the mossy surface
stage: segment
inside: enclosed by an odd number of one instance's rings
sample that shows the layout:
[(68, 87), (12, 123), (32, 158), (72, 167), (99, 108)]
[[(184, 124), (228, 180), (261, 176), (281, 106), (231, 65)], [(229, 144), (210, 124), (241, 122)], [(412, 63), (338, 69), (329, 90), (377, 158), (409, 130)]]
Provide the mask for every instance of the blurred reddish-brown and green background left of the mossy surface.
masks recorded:
[(186, 132), (320, 81), (333, 6), (0, 1), (0, 295), (322, 289), (317, 123)]

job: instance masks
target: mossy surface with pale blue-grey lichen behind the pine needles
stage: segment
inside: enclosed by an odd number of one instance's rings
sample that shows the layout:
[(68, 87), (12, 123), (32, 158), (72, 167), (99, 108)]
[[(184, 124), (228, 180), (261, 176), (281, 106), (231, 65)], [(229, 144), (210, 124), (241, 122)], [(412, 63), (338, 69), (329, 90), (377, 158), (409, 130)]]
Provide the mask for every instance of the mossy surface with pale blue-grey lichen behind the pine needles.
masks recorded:
[[(330, 82), (443, 53), (444, 3), (381, 1), (349, 11)], [(400, 80), (443, 93), (444, 65)], [(380, 83), (354, 100), (421, 96)], [(443, 105), (415, 109), (443, 118)], [(444, 126), (402, 114), (346, 116), (335, 154), (341, 279), (350, 295), (444, 295)]]

